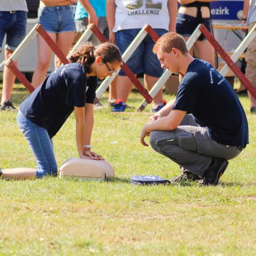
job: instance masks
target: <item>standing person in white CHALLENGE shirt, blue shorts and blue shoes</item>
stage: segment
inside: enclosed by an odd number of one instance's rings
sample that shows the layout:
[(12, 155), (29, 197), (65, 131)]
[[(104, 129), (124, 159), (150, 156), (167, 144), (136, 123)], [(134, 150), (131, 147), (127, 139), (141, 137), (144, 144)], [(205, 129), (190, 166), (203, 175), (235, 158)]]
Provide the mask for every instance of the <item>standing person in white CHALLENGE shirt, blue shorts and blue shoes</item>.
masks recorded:
[[(125, 52), (136, 35), (145, 26), (155, 29), (159, 36), (168, 31), (175, 31), (177, 1), (124, 1), (107, 0), (106, 17), (109, 26), (109, 41), (116, 43), (120, 51)], [(148, 91), (162, 76), (161, 65), (152, 53), (154, 41), (147, 35), (133, 52), (127, 66), (134, 74), (144, 73), (144, 83)], [(113, 105), (113, 112), (123, 112), (127, 108), (126, 101), (133, 84), (121, 70), (118, 77), (118, 100)], [(157, 112), (165, 105), (163, 91), (159, 91), (153, 99), (151, 112)]]

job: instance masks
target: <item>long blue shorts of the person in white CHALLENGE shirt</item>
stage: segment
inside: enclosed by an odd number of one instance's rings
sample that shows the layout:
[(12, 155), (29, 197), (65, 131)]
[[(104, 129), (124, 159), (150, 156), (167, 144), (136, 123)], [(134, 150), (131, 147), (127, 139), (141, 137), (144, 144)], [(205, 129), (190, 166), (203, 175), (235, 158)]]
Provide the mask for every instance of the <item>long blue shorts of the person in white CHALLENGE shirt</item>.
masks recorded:
[[(116, 32), (116, 45), (123, 54), (131, 44), (131, 41), (136, 37), (141, 29), (125, 29)], [(165, 29), (155, 29), (159, 37), (167, 33)], [(161, 77), (163, 69), (158, 61), (157, 55), (153, 54), (152, 49), (155, 43), (150, 35), (147, 35), (144, 40), (138, 45), (137, 49), (126, 62), (134, 74), (144, 73), (153, 77)], [(120, 76), (126, 76), (123, 70), (119, 72)]]

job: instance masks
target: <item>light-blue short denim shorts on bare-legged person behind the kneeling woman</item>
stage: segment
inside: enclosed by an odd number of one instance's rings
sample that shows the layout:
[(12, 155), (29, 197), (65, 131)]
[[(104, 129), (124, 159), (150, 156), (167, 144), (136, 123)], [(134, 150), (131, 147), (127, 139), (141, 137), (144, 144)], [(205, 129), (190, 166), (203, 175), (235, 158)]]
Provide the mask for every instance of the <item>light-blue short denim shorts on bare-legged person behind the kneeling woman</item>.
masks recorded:
[(39, 23), (47, 32), (76, 32), (74, 15), (70, 5), (45, 6), (38, 9)]

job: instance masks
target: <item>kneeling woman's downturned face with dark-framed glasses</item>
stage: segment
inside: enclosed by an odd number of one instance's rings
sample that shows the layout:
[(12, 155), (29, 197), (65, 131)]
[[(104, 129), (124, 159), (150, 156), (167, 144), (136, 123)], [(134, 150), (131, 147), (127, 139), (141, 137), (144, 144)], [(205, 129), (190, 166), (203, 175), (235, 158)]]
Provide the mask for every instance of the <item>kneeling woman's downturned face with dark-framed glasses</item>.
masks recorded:
[(112, 76), (119, 69), (120, 62), (105, 62), (101, 56), (96, 58), (95, 76), (99, 79), (105, 79), (107, 76)]

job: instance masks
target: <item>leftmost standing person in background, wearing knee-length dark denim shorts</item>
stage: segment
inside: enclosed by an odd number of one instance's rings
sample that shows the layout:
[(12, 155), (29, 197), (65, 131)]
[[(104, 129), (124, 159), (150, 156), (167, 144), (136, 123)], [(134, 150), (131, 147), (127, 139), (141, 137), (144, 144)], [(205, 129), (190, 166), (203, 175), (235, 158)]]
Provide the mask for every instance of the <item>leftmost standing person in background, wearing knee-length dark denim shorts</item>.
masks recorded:
[[(13, 51), (18, 47), (26, 35), (27, 26), (26, 0), (0, 0), (0, 52), (2, 51), (3, 38), (6, 35), (5, 59), (9, 59)], [(15, 62), (17, 65), (17, 62)], [(3, 68), (3, 90), (0, 111), (15, 109), (10, 100), (15, 75)]]

